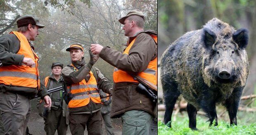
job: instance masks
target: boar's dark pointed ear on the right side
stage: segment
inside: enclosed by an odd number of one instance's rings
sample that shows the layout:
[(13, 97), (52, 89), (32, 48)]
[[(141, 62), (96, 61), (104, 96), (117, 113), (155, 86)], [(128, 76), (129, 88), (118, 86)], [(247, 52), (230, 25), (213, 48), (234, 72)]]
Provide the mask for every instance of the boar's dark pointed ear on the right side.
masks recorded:
[(249, 40), (248, 30), (240, 28), (233, 34), (233, 40), (238, 44), (239, 48), (244, 49), (247, 47)]

